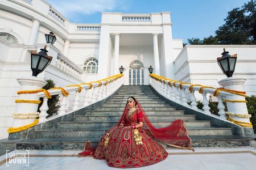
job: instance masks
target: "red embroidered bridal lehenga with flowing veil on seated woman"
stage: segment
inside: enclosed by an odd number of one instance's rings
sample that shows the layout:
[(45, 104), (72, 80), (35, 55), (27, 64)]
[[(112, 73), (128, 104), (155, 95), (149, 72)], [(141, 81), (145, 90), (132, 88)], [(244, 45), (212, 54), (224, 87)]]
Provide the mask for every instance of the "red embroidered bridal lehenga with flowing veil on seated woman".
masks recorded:
[[(168, 153), (154, 139), (167, 145), (192, 149), (191, 139), (183, 120), (176, 120), (166, 128), (156, 129), (152, 126), (141, 104), (133, 113), (125, 107), (118, 124), (110, 128), (101, 138), (96, 150), (86, 142), (84, 151), (79, 155), (94, 155), (96, 159), (106, 159), (110, 167), (135, 168), (158, 163), (167, 158)], [(143, 128), (130, 129), (124, 127), (143, 121)]]

